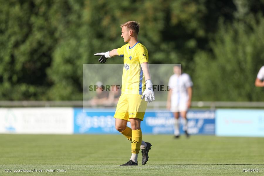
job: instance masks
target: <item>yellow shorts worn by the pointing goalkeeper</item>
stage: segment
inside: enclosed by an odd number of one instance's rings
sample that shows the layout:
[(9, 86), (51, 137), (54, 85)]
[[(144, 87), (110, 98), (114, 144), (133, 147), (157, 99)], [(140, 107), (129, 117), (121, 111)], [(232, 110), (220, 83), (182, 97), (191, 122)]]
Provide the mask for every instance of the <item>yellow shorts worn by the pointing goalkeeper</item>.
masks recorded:
[(141, 121), (144, 118), (147, 109), (147, 101), (141, 100), (139, 94), (121, 94), (114, 118), (129, 121), (130, 118), (138, 118)]

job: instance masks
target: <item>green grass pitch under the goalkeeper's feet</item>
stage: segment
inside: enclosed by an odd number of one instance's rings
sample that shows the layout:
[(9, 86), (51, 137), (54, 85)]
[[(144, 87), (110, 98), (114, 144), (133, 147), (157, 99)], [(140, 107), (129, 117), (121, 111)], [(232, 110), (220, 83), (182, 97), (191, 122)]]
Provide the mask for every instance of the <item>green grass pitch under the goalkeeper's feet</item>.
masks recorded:
[[(141, 165), (140, 153), (139, 165), (129, 167), (119, 166), (131, 156), (131, 143), (121, 134), (1, 134), (0, 139), (0, 175), (264, 175), (264, 138), (181, 136), (176, 140), (172, 135), (143, 135), (153, 145), (149, 161)], [(44, 171), (14, 172), (21, 169)]]

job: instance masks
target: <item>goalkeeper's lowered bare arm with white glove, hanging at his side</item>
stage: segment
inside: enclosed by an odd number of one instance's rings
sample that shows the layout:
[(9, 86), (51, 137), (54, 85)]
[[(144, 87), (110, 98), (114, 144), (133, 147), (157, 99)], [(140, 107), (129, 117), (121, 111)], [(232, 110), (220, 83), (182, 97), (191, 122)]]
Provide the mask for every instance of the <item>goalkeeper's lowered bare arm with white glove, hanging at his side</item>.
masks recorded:
[(146, 80), (146, 89), (143, 92), (141, 99), (145, 97), (145, 101), (148, 101), (148, 102), (154, 101), (155, 96), (154, 96), (154, 92), (152, 88), (152, 81), (150, 77), (148, 62), (141, 63), (141, 68), (142, 68), (142, 71), (144, 73), (144, 77)]

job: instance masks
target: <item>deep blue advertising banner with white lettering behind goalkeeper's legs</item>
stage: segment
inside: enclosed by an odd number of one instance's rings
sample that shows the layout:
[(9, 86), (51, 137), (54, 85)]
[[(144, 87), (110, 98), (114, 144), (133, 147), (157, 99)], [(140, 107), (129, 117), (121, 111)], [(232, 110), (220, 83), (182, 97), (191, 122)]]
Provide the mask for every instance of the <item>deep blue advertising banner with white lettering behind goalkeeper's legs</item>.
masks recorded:
[[(115, 129), (115, 109), (74, 109), (74, 133), (119, 133)], [(215, 112), (211, 110), (189, 110), (188, 132), (190, 134), (215, 134)], [(130, 123), (128, 122), (128, 126)], [(143, 133), (173, 134), (174, 117), (170, 111), (145, 113), (141, 122)], [(184, 133), (182, 126), (180, 132)]]

